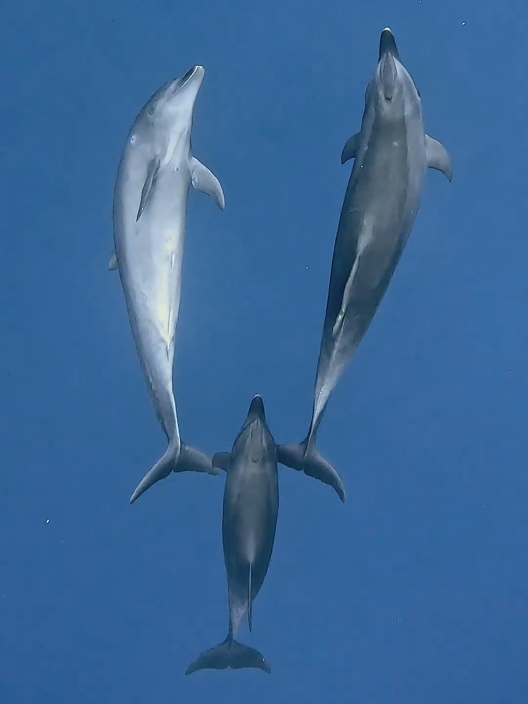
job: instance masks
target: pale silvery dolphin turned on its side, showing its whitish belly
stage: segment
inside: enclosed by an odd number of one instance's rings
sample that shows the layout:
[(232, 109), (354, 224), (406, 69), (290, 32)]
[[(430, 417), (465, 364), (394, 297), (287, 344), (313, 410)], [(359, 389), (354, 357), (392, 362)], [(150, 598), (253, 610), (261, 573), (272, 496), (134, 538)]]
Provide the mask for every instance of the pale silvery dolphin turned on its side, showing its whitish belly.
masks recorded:
[(189, 182), (221, 210), (225, 206), (220, 182), (191, 155), (194, 101), (204, 75), (202, 66), (194, 66), (146, 103), (128, 135), (115, 182), (115, 253), (108, 267), (119, 269), (139, 361), (168, 439), (167, 451), (130, 503), (171, 471), (218, 474), (206, 455), (181, 441), (172, 390)]

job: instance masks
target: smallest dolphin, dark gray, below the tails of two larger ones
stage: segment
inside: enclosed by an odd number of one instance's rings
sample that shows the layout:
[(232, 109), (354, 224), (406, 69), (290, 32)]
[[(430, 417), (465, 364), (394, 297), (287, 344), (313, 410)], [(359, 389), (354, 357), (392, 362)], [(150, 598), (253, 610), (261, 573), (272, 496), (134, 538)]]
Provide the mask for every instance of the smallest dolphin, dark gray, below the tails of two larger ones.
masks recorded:
[(226, 667), (256, 667), (271, 672), (258, 650), (235, 640), (246, 613), (251, 631), (251, 608), (268, 572), (279, 513), (277, 451), (258, 394), (251, 401), (232, 451), (216, 454), (213, 466), (227, 472), (222, 542), (230, 603), (229, 633), (223, 643), (194, 660), (185, 674)]

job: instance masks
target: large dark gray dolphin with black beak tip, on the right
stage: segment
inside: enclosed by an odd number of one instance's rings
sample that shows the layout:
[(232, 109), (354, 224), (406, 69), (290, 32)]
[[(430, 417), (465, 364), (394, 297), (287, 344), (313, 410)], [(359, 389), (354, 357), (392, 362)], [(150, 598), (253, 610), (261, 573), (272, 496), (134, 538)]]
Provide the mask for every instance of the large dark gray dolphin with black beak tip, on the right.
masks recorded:
[(427, 167), (451, 181), (451, 159), (425, 134), (420, 93), (386, 28), (365, 94), (361, 131), (341, 163), (354, 158), (337, 228), (310, 429), (299, 445), (277, 446), (279, 463), (333, 486), (343, 482), (315, 445), (322, 415), (385, 294), (422, 199)]

